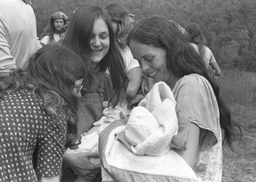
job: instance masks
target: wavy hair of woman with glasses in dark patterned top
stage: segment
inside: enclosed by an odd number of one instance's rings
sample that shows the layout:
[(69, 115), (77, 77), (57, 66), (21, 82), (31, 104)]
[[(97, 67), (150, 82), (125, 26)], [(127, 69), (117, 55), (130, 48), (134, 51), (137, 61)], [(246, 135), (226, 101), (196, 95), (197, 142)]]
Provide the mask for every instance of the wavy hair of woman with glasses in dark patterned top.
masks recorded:
[(42, 99), (42, 108), (55, 118), (58, 110), (64, 111), (68, 124), (65, 147), (76, 148), (80, 138), (74, 87), (85, 74), (85, 64), (78, 55), (62, 45), (45, 45), (29, 58), (25, 69), (14, 69), (9, 76), (0, 78), (0, 97), (28, 89)]

